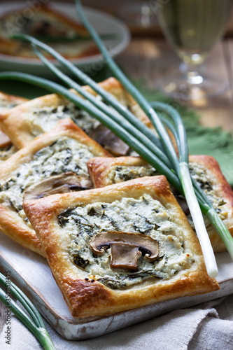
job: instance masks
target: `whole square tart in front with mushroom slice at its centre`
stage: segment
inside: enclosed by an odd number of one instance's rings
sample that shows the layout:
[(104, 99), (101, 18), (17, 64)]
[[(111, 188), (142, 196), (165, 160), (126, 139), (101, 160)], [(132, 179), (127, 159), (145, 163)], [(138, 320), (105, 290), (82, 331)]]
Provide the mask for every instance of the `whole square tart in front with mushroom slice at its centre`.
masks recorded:
[(25, 201), (24, 211), (74, 317), (219, 288), (165, 176)]

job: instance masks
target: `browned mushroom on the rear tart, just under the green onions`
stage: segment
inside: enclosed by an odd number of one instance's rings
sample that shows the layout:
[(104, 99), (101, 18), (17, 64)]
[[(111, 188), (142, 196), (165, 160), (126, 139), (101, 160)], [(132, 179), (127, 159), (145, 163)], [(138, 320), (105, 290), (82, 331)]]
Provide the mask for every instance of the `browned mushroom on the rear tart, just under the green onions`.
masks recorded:
[(92, 130), (89, 136), (113, 155), (127, 155), (129, 152), (129, 146), (104, 125)]

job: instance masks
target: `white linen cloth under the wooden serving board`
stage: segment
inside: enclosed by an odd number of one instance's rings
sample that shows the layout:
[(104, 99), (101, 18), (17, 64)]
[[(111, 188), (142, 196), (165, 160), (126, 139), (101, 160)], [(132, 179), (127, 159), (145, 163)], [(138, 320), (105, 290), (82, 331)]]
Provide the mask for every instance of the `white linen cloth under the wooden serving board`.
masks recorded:
[[(45, 323), (57, 350), (232, 350), (233, 294), (89, 340), (65, 340)], [(43, 349), (15, 316), (10, 345), (5, 342), (5, 330), (6, 325), (0, 335), (1, 350)]]

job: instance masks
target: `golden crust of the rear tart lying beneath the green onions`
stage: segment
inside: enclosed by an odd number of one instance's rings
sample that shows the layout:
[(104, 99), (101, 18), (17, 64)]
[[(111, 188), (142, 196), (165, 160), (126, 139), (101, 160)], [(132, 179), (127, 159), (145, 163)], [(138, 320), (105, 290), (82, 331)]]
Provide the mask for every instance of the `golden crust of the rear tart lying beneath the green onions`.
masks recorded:
[[(108, 78), (102, 83), (99, 83), (99, 85), (103, 87), (104, 90), (113, 94), (121, 104), (128, 106), (139, 120), (149, 127), (152, 127), (148, 117), (143, 111), (141, 111), (139, 105), (136, 104), (132, 96), (130, 96), (130, 94), (122, 87), (118, 80), (115, 78)], [(97, 95), (89, 86), (83, 88), (90, 93)], [(17, 148), (22, 148), (34, 139), (31, 125), (31, 115), (34, 109), (41, 109), (44, 106), (66, 106), (68, 103), (69, 102), (66, 99), (58, 94), (48, 94), (32, 99), (10, 111), (0, 113), (0, 127), (6, 132)], [(41, 132), (43, 131), (41, 130)]]

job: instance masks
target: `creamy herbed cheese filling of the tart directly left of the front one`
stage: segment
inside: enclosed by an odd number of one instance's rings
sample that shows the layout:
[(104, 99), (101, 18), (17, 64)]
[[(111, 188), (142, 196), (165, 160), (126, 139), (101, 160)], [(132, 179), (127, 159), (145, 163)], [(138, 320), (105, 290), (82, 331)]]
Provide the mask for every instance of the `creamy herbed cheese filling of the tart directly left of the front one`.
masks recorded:
[(22, 209), (24, 190), (50, 176), (74, 172), (89, 178), (87, 160), (94, 155), (87, 146), (63, 137), (34, 154), (30, 162), (23, 163), (10, 178), (0, 183), (0, 202), (8, 204), (29, 224)]

